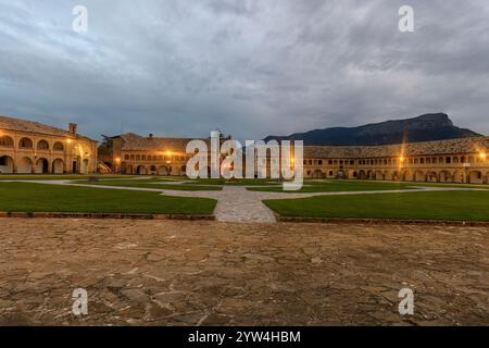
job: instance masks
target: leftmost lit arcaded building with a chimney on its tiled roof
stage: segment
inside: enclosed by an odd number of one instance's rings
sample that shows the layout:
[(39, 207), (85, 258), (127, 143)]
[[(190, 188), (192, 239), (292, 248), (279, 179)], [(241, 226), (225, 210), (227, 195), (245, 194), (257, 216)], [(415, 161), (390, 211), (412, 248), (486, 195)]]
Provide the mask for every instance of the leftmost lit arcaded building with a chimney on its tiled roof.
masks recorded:
[(97, 141), (67, 129), (0, 116), (0, 174), (97, 172)]

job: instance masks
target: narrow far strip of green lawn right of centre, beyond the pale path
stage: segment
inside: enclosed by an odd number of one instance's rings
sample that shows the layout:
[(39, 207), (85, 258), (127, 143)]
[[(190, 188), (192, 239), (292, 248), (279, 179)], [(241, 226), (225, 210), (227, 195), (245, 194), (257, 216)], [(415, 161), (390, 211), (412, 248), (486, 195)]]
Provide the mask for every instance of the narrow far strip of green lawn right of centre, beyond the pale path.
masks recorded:
[[(392, 190), (411, 189), (412, 183), (381, 183), (381, 182), (361, 182), (361, 181), (304, 181), (304, 186), (297, 192), (338, 192), (338, 191), (368, 191), (368, 190)], [(252, 191), (281, 192), (283, 187), (249, 187)]]

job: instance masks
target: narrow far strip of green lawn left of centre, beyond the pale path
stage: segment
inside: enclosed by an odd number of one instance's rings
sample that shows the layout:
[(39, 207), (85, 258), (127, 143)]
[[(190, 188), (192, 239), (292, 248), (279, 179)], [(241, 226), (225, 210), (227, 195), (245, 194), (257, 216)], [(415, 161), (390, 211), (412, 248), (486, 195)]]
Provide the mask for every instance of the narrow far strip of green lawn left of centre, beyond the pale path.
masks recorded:
[(187, 184), (170, 184), (172, 181), (165, 179), (118, 179), (118, 181), (100, 181), (100, 182), (87, 182), (87, 181), (76, 181), (73, 184), (79, 185), (100, 185), (100, 186), (117, 186), (117, 187), (140, 187), (140, 188), (159, 188), (159, 189), (174, 189), (183, 191), (212, 191), (222, 190), (221, 186), (216, 185), (187, 185)]

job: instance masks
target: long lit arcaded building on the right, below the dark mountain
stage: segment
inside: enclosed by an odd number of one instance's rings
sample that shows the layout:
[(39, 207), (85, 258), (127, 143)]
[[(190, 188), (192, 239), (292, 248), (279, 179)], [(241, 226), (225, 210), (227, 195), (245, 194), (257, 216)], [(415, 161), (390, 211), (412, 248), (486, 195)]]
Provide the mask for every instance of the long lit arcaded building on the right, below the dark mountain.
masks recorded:
[(489, 137), (304, 147), (304, 177), (488, 184)]

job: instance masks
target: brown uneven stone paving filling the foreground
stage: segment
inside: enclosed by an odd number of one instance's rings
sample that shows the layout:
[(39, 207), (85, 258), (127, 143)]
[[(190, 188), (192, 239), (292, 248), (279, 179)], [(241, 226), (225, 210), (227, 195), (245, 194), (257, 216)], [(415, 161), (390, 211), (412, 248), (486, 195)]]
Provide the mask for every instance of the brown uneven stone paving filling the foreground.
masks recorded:
[[(0, 219), (0, 324), (489, 325), (489, 228)], [(88, 291), (88, 315), (72, 291)], [(415, 291), (401, 316), (398, 293)]]

